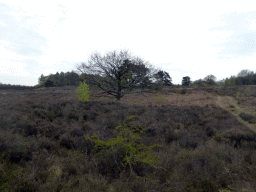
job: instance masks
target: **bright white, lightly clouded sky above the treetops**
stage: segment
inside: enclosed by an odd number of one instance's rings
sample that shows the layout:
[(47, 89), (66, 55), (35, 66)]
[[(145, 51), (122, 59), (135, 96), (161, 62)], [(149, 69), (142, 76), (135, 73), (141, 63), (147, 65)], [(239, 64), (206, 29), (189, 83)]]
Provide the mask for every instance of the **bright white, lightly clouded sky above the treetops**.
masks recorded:
[(256, 72), (256, 1), (0, 1), (0, 82), (34, 86), (127, 49), (172, 83)]

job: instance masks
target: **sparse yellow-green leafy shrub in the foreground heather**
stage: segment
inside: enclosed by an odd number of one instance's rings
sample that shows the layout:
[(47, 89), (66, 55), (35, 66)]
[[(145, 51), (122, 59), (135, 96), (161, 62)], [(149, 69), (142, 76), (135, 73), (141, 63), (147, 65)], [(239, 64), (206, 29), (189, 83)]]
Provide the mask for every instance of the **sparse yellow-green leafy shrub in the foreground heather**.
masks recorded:
[[(105, 157), (109, 158), (111, 154), (119, 151), (119, 155), (114, 155), (115, 159), (114, 161), (111, 159), (111, 162), (115, 162), (116, 167), (120, 171), (125, 171), (127, 169), (127, 165), (129, 165), (130, 171), (132, 173), (133, 165), (136, 165), (138, 163), (148, 164), (154, 168), (161, 168), (155, 165), (155, 163), (158, 162), (159, 158), (157, 158), (154, 155), (149, 156), (149, 153), (152, 150), (152, 148), (158, 147), (161, 145), (154, 144), (152, 146), (147, 147), (141, 142), (139, 142), (139, 140), (141, 139), (139, 135), (143, 133), (146, 129), (131, 122), (133, 120), (134, 120), (134, 116), (129, 116), (122, 125), (119, 125), (116, 127), (116, 130), (114, 131), (114, 133), (116, 131), (120, 131), (117, 137), (113, 139), (109, 139), (106, 142), (100, 140), (100, 138), (96, 134), (93, 134), (92, 136), (92, 138), (95, 138), (95, 139), (91, 139), (88, 135), (85, 139), (95, 142), (95, 146), (92, 152), (93, 151), (98, 152), (97, 155), (105, 154), (107, 155)], [(124, 149), (124, 153), (122, 153), (124, 155), (120, 155), (120, 149), (121, 150)], [(117, 158), (117, 156), (121, 157), (121, 160), (119, 160), (120, 158)], [(104, 161), (106, 160), (107, 159), (104, 158)], [(120, 168), (120, 166), (122, 168)], [(106, 171), (105, 168), (103, 171)], [(136, 176), (136, 177), (139, 178), (139, 176)], [(150, 181), (157, 182), (155, 180), (150, 180)]]

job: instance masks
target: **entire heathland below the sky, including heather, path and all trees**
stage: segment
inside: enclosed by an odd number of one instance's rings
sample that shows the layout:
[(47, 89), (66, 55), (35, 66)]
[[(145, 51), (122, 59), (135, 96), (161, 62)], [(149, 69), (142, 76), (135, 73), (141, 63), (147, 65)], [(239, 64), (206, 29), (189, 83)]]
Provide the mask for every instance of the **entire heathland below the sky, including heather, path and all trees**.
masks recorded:
[(128, 56), (0, 85), (0, 191), (256, 189), (256, 74), (180, 86)]

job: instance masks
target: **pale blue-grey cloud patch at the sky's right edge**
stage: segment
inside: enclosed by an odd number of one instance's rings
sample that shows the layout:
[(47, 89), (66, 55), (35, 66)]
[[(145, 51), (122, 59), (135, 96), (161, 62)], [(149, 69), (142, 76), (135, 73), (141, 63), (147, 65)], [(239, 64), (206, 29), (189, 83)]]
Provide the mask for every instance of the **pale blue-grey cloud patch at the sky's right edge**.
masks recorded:
[(223, 26), (214, 27), (210, 31), (232, 30), (234, 33), (226, 42), (215, 44), (224, 49), (218, 53), (220, 58), (238, 56), (250, 56), (256, 52), (256, 30), (249, 29), (249, 25), (256, 19), (256, 11), (246, 13), (231, 13), (222, 16)]

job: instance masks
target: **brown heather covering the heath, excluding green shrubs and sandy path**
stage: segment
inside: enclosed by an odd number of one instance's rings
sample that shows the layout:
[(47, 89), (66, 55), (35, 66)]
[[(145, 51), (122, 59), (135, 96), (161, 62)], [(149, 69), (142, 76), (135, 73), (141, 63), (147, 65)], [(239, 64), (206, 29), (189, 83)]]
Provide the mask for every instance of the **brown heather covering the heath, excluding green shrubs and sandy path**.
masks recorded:
[[(168, 88), (158, 92), (162, 97), (144, 91), (119, 102), (97, 93), (88, 103), (75, 99), (75, 88), (0, 93), (0, 189), (4, 183), (6, 191), (256, 188), (256, 134), (216, 105), (217, 94), (238, 100), (236, 87)], [(104, 141), (115, 137), (115, 127), (131, 115), (147, 129), (141, 136), (145, 145), (162, 145), (152, 153), (166, 170), (138, 164), (134, 174), (158, 183), (120, 172), (115, 161), (123, 150), (95, 158), (94, 143), (84, 139), (93, 133)]]

